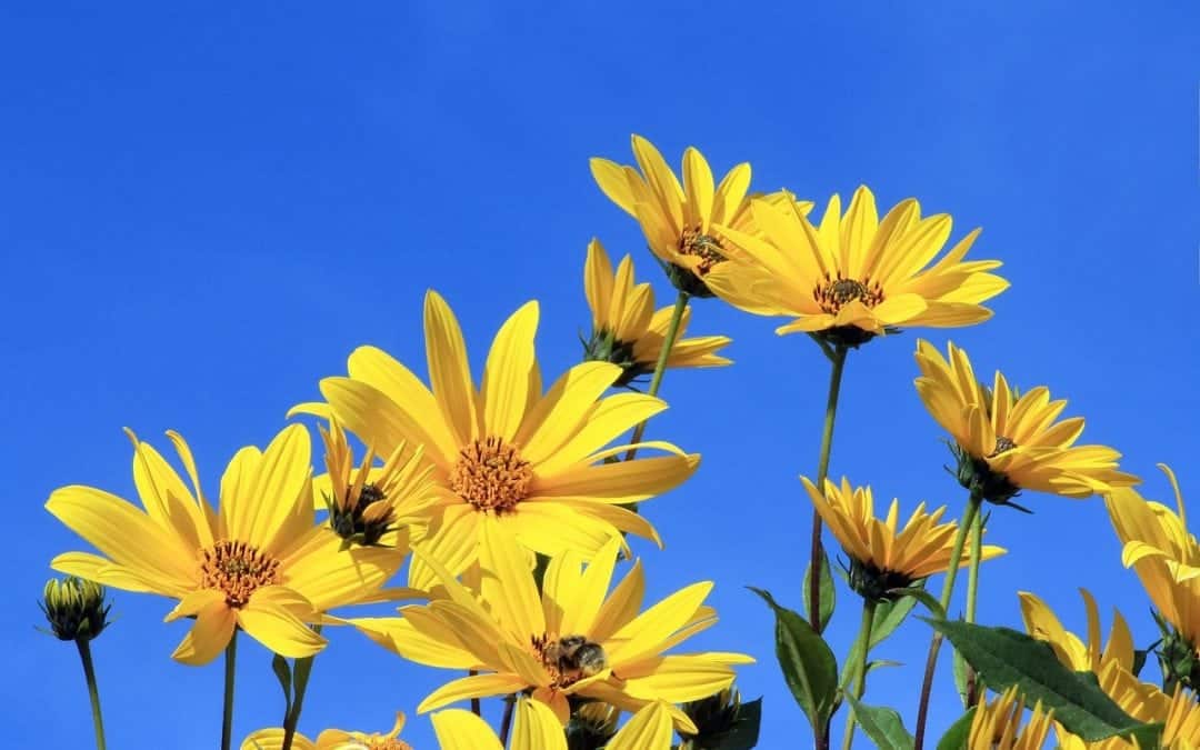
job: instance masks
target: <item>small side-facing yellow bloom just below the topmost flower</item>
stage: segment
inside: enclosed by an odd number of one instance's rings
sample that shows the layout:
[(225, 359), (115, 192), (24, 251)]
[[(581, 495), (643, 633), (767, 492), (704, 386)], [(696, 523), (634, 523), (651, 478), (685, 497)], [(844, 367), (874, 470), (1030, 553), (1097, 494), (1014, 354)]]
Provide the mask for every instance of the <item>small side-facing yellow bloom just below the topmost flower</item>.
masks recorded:
[[(592, 307), (592, 338), (586, 344), (586, 359), (620, 365), (623, 372), (616, 385), (629, 385), (638, 377), (654, 372), (672, 308), (664, 307), (655, 312), (654, 289), (648, 283), (634, 283), (632, 258), (622, 258), (613, 275), (604, 245), (592, 240), (583, 270), (583, 288)], [(728, 336), (684, 338), (689, 318), (690, 306), (684, 310), (679, 337), (667, 355), (667, 367), (728, 365), (730, 360), (716, 354), (728, 346)]]

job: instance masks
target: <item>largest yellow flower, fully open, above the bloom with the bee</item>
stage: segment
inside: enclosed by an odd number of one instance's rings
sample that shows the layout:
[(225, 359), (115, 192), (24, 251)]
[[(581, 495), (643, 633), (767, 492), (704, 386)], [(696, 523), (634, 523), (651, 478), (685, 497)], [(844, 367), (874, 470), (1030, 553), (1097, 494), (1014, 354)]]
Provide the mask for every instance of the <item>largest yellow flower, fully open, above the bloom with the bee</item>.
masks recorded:
[[(424, 445), (442, 499), (420, 540), (452, 572), (478, 557), (479, 535), (503, 526), (527, 547), (554, 554), (594, 554), (623, 532), (658, 541), (654, 527), (620, 508), (683, 482), (700, 462), (670, 443), (643, 443), (666, 455), (601, 463), (631, 445), (604, 446), (666, 408), (642, 394), (602, 397), (622, 374), (608, 362), (583, 362), (548, 391), (534, 355), (538, 304), (529, 302), (496, 335), (479, 389), (470, 376), (458, 322), (434, 292), (425, 298), (425, 338), (432, 391), (407, 367), (373, 347), (350, 354), (349, 377), (320, 382), (324, 403), (293, 409), (335, 416), (377, 454)], [(414, 560), (409, 584), (436, 582)]]

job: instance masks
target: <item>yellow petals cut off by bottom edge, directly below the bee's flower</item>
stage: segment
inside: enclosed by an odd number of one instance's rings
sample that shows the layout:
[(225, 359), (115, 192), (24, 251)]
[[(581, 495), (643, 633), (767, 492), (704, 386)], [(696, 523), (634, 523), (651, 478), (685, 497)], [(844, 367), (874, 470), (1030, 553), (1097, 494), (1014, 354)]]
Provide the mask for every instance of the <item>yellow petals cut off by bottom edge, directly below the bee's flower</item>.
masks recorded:
[[(509, 750), (566, 750), (563, 726), (544, 703), (518, 698)], [(442, 750), (504, 750), (492, 727), (475, 714), (451, 708), (433, 714)], [(673, 736), (670, 707), (656, 701), (638, 710), (605, 745), (605, 750), (670, 750)]]

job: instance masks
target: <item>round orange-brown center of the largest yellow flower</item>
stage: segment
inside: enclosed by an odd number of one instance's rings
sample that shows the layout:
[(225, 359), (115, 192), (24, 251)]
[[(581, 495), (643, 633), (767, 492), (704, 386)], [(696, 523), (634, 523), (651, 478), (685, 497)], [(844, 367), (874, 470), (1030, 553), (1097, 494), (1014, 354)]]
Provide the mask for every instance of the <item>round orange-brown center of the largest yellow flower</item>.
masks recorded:
[(450, 488), (478, 510), (510, 511), (529, 494), (533, 469), (500, 438), (472, 440), (458, 451)]

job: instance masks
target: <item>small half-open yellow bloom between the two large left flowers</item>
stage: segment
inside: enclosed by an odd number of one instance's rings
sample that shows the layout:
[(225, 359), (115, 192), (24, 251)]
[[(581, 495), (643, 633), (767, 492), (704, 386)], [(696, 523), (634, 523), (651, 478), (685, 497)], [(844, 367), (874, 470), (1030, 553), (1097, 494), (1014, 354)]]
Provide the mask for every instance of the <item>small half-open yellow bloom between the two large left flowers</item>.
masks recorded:
[(347, 542), (394, 547), (401, 528), (427, 523), (439, 496), (424, 448), (397, 445), (382, 467), (370, 448), (355, 468), (346, 432), (331, 419), (318, 427), (325, 443), (328, 474), (313, 479), (313, 499), (329, 511), (329, 526)]

